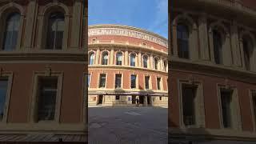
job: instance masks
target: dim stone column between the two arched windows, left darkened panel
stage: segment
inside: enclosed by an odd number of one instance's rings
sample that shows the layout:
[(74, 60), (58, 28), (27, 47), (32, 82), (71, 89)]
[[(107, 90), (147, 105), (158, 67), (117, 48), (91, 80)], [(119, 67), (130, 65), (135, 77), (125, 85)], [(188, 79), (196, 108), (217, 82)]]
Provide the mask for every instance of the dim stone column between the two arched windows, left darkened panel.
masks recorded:
[(36, 19), (36, 10), (38, 10), (37, 1), (30, 1), (26, 14), (26, 29), (24, 30), (24, 48), (31, 49), (34, 40), (34, 23)]

